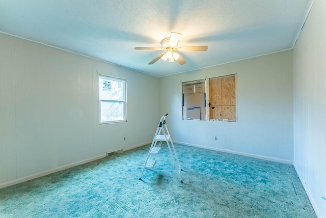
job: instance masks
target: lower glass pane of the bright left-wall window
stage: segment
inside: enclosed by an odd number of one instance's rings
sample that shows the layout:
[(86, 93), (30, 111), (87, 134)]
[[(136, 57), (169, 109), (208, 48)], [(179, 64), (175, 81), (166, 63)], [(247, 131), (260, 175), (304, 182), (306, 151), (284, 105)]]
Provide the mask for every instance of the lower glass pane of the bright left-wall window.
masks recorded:
[(101, 122), (123, 121), (124, 105), (123, 102), (100, 102)]

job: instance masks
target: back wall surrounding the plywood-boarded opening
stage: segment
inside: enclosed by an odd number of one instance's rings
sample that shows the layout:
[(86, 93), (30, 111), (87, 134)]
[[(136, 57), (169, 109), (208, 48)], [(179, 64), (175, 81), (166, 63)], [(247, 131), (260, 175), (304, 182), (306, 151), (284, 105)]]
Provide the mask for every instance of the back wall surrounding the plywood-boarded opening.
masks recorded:
[[(237, 74), (238, 122), (181, 119), (182, 82), (229, 74)], [(160, 77), (159, 85), (174, 141), (292, 163), (292, 50)]]

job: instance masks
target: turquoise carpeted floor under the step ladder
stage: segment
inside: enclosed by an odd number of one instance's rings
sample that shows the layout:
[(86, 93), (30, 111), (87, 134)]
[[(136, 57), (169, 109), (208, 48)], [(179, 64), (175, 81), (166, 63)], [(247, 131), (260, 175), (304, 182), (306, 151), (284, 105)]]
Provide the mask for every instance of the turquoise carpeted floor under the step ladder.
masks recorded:
[(0, 189), (0, 217), (316, 217), (293, 166), (175, 145), (138, 180), (149, 146)]

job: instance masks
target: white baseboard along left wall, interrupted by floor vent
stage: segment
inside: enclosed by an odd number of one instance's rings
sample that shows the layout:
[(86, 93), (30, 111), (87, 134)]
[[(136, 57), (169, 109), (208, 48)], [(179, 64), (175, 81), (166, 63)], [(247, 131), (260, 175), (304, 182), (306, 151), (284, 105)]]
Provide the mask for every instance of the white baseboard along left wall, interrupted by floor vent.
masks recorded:
[[(128, 150), (131, 150), (131, 149), (134, 149), (134, 148), (138, 148), (138, 147), (141, 147), (141, 146), (144, 146), (144, 145), (148, 145), (149, 143), (151, 143), (151, 142), (145, 142), (145, 143), (142, 143), (142, 144), (139, 144), (139, 145), (134, 145), (134, 146), (131, 146), (131, 147), (128, 147), (128, 148), (124, 148), (123, 151), (128, 151)], [(15, 185), (15, 184), (18, 184), (18, 183), (21, 183), (21, 182), (26, 182), (26, 181), (29, 181), (29, 180), (32, 180), (32, 179), (36, 179), (36, 178), (39, 178), (39, 177), (42, 177), (42, 176), (46, 176), (46, 175), (49, 175), (51, 173), (56, 173), (56, 172), (59, 172), (59, 171), (62, 171), (62, 170), (66, 170), (68, 168), (76, 167), (78, 165), (83, 165), (84, 163), (91, 162), (91, 161), (94, 161), (94, 160), (97, 160), (97, 159), (101, 159), (103, 157), (106, 157), (106, 154), (102, 154), (102, 155), (99, 155), (99, 156), (96, 156), (96, 157), (92, 157), (92, 158), (88, 158), (88, 159), (81, 160), (81, 161), (78, 161), (78, 162), (70, 163), (69, 165), (61, 166), (61, 167), (58, 167), (58, 168), (54, 168), (54, 169), (51, 169), (51, 170), (43, 171), (43, 172), (36, 173), (36, 174), (30, 175), (30, 176), (26, 176), (26, 177), (23, 177), (23, 178), (19, 178), (19, 179), (15, 179), (15, 180), (12, 180), (12, 181), (9, 181), (9, 182), (5, 182), (5, 183), (0, 184), (0, 189), (4, 188), (4, 187), (11, 186), (11, 185)]]

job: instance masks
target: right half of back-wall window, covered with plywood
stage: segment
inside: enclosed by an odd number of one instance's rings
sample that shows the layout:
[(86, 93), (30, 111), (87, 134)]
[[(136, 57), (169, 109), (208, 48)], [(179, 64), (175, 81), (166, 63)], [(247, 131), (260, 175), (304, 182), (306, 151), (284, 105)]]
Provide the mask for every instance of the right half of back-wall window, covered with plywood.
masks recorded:
[(236, 122), (235, 75), (209, 79), (209, 119)]

